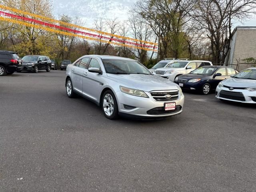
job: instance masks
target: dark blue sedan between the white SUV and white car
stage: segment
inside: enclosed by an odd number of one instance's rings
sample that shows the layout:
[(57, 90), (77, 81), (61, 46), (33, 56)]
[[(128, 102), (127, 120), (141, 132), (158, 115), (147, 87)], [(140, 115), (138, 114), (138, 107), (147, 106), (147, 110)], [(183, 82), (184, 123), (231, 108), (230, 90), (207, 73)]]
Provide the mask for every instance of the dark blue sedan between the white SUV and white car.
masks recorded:
[(237, 74), (234, 68), (226, 66), (203, 66), (189, 74), (176, 77), (174, 82), (183, 90), (197, 90), (204, 95), (215, 90), (219, 82)]

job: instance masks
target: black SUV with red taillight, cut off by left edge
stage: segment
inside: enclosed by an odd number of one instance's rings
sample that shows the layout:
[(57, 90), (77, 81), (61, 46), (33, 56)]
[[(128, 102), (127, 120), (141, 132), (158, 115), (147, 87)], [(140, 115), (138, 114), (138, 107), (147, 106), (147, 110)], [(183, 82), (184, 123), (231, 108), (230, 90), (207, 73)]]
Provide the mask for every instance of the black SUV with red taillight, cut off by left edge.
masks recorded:
[(13, 74), (15, 71), (22, 70), (22, 60), (18, 53), (0, 50), (0, 76)]

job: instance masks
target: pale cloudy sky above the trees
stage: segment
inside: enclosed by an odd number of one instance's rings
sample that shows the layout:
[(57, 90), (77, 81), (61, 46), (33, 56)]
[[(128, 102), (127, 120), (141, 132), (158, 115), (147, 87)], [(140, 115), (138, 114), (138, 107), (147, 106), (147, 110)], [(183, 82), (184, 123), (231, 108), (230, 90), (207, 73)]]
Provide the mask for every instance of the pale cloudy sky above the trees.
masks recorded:
[[(84, 27), (92, 28), (95, 18), (128, 19), (128, 11), (136, 0), (52, 0), (54, 15), (78, 16), (85, 23)], [(256, 26), (256, 16), (246, 22), (236, 22), (234, 26)]]

